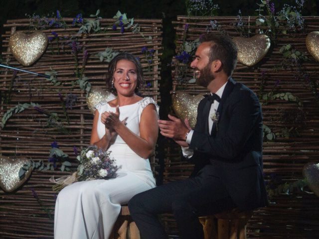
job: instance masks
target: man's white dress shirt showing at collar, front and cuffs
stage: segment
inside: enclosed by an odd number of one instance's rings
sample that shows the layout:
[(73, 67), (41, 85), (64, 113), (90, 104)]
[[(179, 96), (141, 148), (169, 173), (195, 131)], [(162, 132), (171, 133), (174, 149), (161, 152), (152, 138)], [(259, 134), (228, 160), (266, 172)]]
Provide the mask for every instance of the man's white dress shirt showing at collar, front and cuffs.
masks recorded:
[[(220, 99), (221, 99), (221, 96), (223, 95), (223, 92), (224, 92), (224, 89), (225, 89), (225, 86), (226, 86), (227, 82), (224, 85), (222, 85), (222, 87), (220, 87), (218, 89), (218, 91), (215, 93), (217, 96), (220, 97)], [(210, 93), (210, 94), (212, 94), (212, 93)], [(214, 124), (214, 121), (211, 119), (211, 116), (216, 113), (218, 106), (219, 106), (219, 102), (216, 101), (216, 100), (210, 106), (210, 111), (209, 111), (209, 115), (208, 115), (208, 130), (209, 130), (208, 133), (209, 134), (210, 134), (211, 129), (212, 129), (213, 124)], [(193, 133), (194, 133), (194, 130), (191, 129), (189, 131), (189, 133), (187, 134), (186, 143), (190, 144), (190, 141), (191, 141), (191, 138), (193, 136)], [(193, 156), (193, 154), (194, 154), (193, 149), (190, 149), (189, 147), (182, 147), (181, 146), (181, 150), (182, 150), (183, 156), (186, 157), (186, 158), (191, 158)]]

